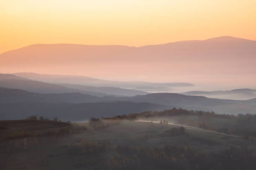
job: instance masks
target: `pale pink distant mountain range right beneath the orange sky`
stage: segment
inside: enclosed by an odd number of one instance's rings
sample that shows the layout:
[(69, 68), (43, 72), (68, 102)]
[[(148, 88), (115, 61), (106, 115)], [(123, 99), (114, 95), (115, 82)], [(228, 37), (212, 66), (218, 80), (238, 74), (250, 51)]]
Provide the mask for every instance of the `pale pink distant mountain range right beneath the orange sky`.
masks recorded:
[[(232, 80), (237, 81), (237, 83), (250, 84), (256, 75), (255, 56), (256, 41), (228, 36), (143, 47), (36, 44), (0, 54), (0, 71), (49, 72), (51, 74), (54, 72), (90, 73), (90, 76), (100, 77), (143, 75), (151, 77), (151, 80), (159, 78), (160, 75), (168, 75), (169, 78), (174, 77), (172, 75), (187, 75), (187, 77), (201, 74), (222, 75), (222, 77), (226, 75), (225, 78), (218, 77), (219, 82), (230, 82), (231, 80), (228, 80), (227, 77), (229, 79), (232, 77), (228, 75), (235, 76), (238, 74), (246, 75), (247, 77), (241, 76), (241, 78), (247, 81), (238, 81), (237, 77)], [(221, 69), (219, 69), (220, 67)], [(184, 77), (182, 81), (184, 82), (187, 77)], [(74, 77), (72, 77), (73, 82), (60, 81), (60, 78), (56, 81), (55, 78), (52, 78), (51, 82), (98, 86), (98, 80), (92, 80), (92, 84), (84, 84), (80, 80), (81, 77), (76, 78), (79, 81), (74, 81)], [(31, 77), (30, 79), (34, 80)], [(192, 80), (202, 82), (200, 78)], [(49, 82), (46, 79), (40, 81)], [(171, 82), (173, 81), (175, 81), (174, 78)], [(216, 80), (210, 78), (207, 81), (214, 82)], [(101, 83), (101, 85), (103, 84)], [(125, 85), (128, 86), (129, 83)], [(103, 86), (125, 87), (123, 84), (122, 86), (113, 86), (112, 82), (106, 82)], [(145, 86), (145, 84), (142, 83), (137, 86)]]

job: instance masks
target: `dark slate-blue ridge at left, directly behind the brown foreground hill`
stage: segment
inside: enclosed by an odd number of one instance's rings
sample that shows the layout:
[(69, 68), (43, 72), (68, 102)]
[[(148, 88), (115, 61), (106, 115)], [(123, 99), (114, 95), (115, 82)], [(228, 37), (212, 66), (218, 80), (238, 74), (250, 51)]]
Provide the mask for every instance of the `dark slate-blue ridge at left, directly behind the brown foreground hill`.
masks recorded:
[[(82, 121), (89, 117), (108, 117), (114, 115), (142, 112), (145, 110), (164, 110), (166, 106), (146, 102), (102, 102), (102, 103), (42, 103), (22, 102), (0, 104), (0, 120), (17, 120), (38, 115), (59, 120)], [(168, 107), (169, 108), (169, 107)]]

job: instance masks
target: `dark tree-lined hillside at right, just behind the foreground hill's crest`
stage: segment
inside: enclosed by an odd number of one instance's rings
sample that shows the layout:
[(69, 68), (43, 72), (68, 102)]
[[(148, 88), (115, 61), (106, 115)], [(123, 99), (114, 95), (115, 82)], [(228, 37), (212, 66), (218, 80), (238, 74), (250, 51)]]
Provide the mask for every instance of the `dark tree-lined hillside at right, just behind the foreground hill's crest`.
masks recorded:
[[(193, 115), (198, 116), (198, 120), (188, 120), (185, 119), (186, 116)], [(153, 117), (171, 117), (171, 116), (181, 116), (178, 120), (180, 124), (194, 126), (198, 128), (203, 128), (207, 130), (214, 130), (221, 133), (239, 135), (245, 139), (256, 140), (256, 115), (252, 114), (238, 114), (238, 115), (228, 115), (228, 114), (217, 114), (215, 112), (206, 112), (202, 110), (186, 110), (182, 108), (173, 108), (163, 111), (145, 111), (140, 113), (131, 113), (128, 115), (117, 115), (114, 117), (105, 117), (104, 120), (138, 120), (143, 118), (153, 118)], [(184, 118), (184, 120), (182, 120)], [(222, 127), (217, 127), (210, 123), (211, 118), (220, 118), (234, 120), (231, 125), (224, 125)], [(160, 123), (166, 123), (161, 120)], [(168, 124), (168, 122), (167, 122)]]

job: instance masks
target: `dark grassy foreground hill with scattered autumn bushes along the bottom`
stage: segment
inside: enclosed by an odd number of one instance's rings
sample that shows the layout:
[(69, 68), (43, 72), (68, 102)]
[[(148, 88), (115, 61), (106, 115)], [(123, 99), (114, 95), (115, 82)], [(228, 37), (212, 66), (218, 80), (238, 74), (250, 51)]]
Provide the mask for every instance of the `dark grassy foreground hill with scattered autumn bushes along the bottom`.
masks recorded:
[[(172, 118), (167, 119), (171, 122)], [(221, 127), (229, 120), (215, 121)], [(5, 136), (5, 140), (0, 140), (0, 168), (255, 169), (254, 140), (200, 128), (182, 128), (180, 125), (99, 122), (98, 125), (102, 126), (97, 128), (97, 122), (95, 125), (94, 122), (70, 124), (47, 120), (0, 121), (1, 132)]]

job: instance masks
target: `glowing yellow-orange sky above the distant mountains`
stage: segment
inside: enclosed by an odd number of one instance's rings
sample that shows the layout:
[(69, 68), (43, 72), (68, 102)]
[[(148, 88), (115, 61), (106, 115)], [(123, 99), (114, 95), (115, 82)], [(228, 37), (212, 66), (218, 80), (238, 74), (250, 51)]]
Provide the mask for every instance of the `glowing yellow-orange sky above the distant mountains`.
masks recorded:
[(37, 43), (256, 40), (256, 0), (0, 0), (0, 53)]

